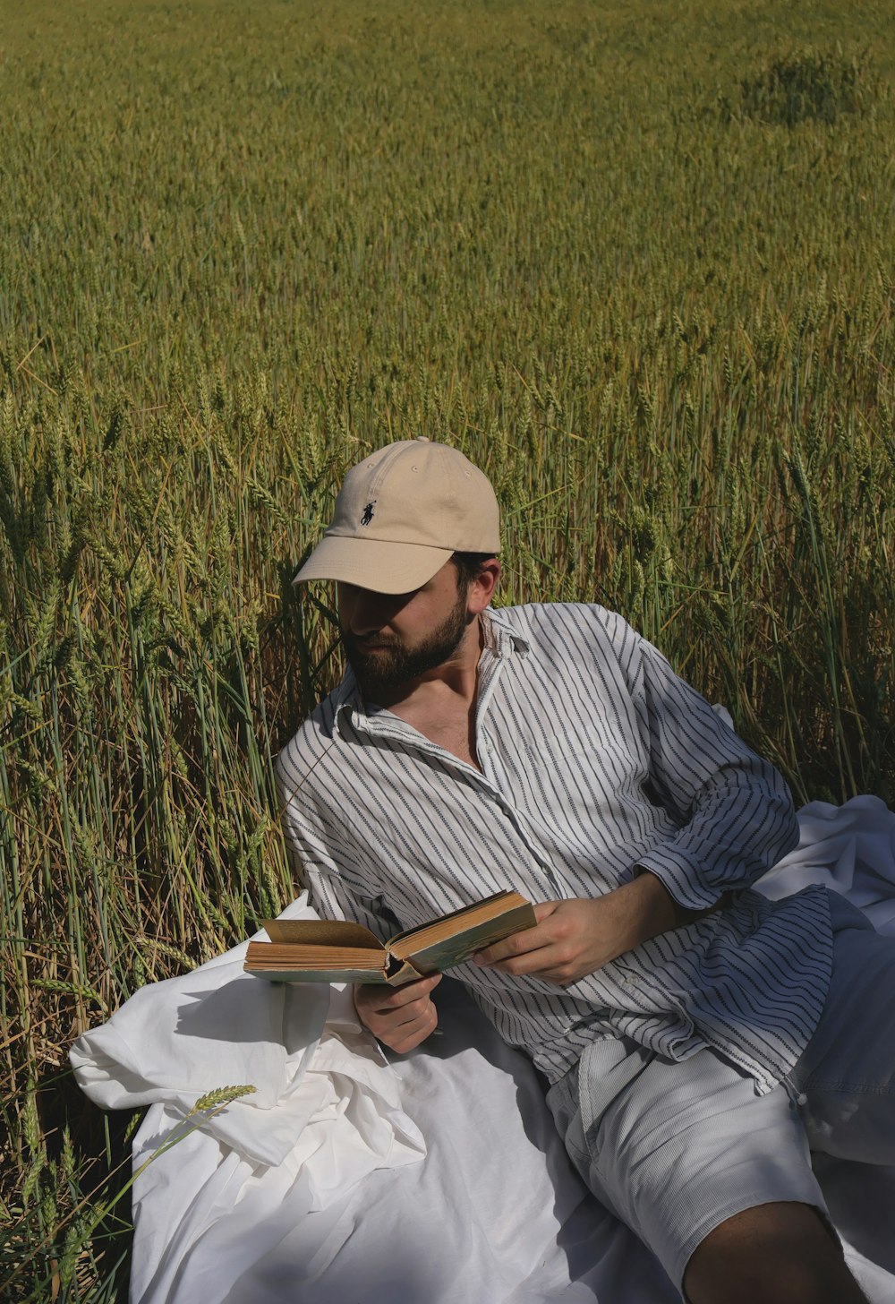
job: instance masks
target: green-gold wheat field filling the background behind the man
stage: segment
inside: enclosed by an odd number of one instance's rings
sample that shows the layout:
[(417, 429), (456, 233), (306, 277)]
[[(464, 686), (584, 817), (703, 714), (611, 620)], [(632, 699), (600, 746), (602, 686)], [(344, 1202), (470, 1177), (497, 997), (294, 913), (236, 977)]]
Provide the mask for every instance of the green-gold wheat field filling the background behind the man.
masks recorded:
[(462, 447), (502, 601), (623, 612), (797, 801), (895, 799), (894, 70), (860, 0), (1, 0), (4, 1299), (124, 1297), (66, 1048), (294, 895), (289, 579), (369, 449)]

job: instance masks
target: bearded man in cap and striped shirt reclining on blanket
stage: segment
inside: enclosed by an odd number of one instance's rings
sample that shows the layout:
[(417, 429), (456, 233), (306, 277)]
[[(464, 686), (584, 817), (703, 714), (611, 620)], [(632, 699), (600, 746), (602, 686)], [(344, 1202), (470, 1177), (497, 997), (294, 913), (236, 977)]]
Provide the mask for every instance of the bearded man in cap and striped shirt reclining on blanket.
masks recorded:
[[(499, 546), (457, 450), (348, 473), (296, 582), (336, 580), (350, 670), (279, 763), (313, 898), (384, 936), (528, 895), (537, 926), (455, 974), (550, 1080), (594, 1193), (692, 1304), (861, 1300), (808, 1146), (892, 1162), (885, 939), (821, 888), (748, 891), (797, 837), (780, 777), (620, 617), (492, 610)], [(358, 987), (357, 1013), (408, 1051), (439, 981)]]

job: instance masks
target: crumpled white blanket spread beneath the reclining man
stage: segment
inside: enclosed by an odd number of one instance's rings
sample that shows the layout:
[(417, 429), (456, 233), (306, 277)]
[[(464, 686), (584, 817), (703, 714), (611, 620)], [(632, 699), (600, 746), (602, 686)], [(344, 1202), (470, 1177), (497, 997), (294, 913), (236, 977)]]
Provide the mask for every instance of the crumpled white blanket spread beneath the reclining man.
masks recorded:
[[(800, 812), (760, 887), (826, 883), (895, 935), (895, 815)], [(284, 917), (309, 914), (300, 897)], [(137, 992), (72, 1060), (103, 1107), (151, 1104), (134, 1188), (133, 1304), (672, 1304), (647, 1251), (581, 1187), (530, 1064), (453, 982), (443, 1034), (393, 1065), (349, 994), (242, 974), (245, 945)], [(251, 1084), (195, 1131), (214, 1088)], [(425, 1140), (423, 1140), (425, 1138)], [(895, 1299), (895, 1170), (818, 1174), (874, 1304)]]

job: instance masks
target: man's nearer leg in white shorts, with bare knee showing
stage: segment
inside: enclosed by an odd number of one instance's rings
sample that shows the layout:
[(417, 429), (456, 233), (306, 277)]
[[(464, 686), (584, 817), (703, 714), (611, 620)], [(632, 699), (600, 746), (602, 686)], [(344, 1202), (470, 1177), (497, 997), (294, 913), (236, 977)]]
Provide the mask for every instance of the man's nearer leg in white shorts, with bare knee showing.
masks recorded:
[(758, 1097), (713, 1051), (588, 1047), (547, 1097), (594, 1194), (690, 1304), (859, 1304), (786, 1088)]

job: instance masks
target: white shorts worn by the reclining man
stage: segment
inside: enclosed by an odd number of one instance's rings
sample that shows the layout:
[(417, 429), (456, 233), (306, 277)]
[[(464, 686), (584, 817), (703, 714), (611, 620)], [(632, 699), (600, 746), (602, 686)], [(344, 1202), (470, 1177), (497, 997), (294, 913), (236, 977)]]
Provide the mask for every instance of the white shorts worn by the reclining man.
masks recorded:
[(788, 1082), (756, 1095), (711, 1050), (676, 1063), (634, 1042), (594, 1042), (547, 1103), (597, 1198), (680, 1290), (700, 1241), (775, 1201), (826, 1217), (810, 1150), (895, 1163), (895, 939), (831, 895), (832, 979)]

